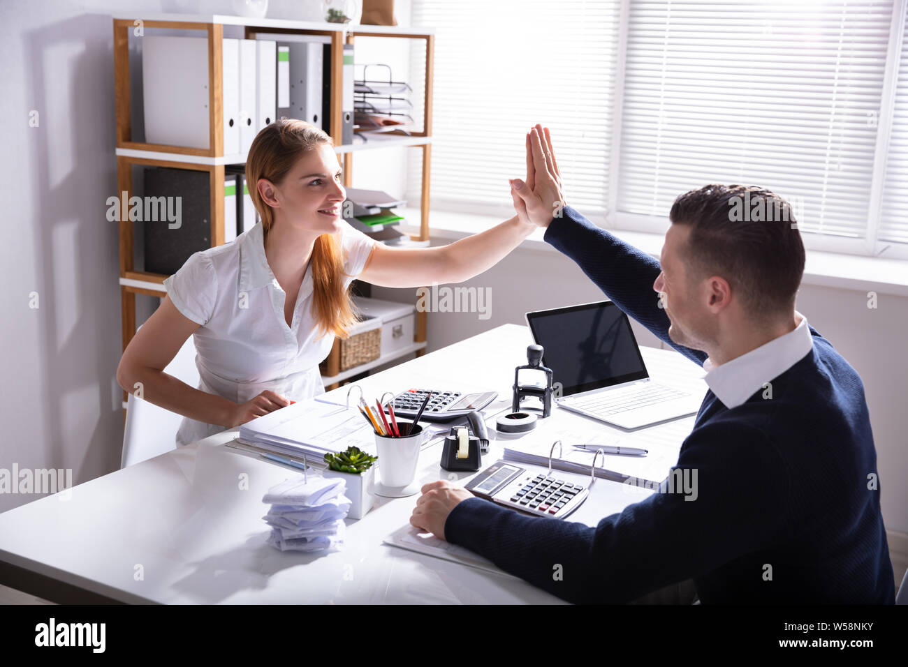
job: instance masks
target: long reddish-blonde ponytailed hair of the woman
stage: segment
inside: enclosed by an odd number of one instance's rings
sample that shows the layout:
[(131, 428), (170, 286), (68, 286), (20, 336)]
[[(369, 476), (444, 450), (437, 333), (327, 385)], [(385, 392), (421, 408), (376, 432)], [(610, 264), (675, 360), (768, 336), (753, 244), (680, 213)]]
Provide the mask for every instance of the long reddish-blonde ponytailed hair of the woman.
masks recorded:
[[(246, 158), (249, 196), (262, 218), (267, 233), (274, 224), (274, 211), (262, 201), (257, 183), (266, 179), (279, 185), (301, 155), (333, 146), (326, 132), (303, 121), (281, 118), (259, 132)], [(312, 316), (321, 334), (333, 333), (347, 338), (347, 329), (357, 321), (350, 289), (344, 289), (341, 247), (335, 234), (325, 233), (315, 240), (310, 260), (312, 270)]]

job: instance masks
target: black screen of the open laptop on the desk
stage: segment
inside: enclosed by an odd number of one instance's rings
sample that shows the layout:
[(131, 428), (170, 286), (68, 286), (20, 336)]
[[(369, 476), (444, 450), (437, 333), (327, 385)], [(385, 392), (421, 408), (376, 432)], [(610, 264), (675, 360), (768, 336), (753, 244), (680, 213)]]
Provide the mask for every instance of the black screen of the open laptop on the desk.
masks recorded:
[(561, 395), (648, 378), (630, 321), (611, 301), (527, 313)]

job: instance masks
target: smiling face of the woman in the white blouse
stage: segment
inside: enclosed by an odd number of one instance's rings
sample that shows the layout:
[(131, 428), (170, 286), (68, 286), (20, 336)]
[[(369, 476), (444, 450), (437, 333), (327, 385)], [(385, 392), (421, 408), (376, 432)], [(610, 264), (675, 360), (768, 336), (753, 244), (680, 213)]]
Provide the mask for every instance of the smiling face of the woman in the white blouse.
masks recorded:
[(339, 230), (341, 204), (347, 199), (341, 179), (341, 165), (331, 146), (320, 144), (304, 153), (276, 188), (282, 212), (278, 217), (300, 230)]

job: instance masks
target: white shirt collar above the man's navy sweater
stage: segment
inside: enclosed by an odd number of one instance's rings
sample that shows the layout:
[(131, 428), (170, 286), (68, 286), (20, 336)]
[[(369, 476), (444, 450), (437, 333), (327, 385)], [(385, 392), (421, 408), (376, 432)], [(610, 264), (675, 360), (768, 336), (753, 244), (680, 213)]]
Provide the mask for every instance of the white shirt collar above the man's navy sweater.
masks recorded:
[(795, 310), (801, 321), (795, 330), (773, 338), (759, 348), (714, 366), (709, 358), (703, 362), (706, 384), (729, 409), (743, 404), (766, 382), (782, 375), (814, 348), (814, 337), (807, 318)]

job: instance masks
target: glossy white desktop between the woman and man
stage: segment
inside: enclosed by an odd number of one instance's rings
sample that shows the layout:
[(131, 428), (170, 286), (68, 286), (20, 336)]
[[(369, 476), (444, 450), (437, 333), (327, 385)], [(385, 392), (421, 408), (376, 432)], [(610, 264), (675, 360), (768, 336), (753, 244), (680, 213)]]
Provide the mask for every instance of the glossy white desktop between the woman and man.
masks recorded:
[[(496, 404), (504, 408), (514, 368), (526, 363), (531, 342), (526, 327), (504, 325), (359, 384), (372, 400), (385, 390), (410, 387), (494, 388)], [(705, 391), (702, 368), (675, 351), (642, 349), (653, 377)], [(344, 396), (347, 387), (335, 391)], [(549, 418), (558, 425), (586, 421), (557, 407)], [(686, 433), (693, 418), (674, 427)], [(264, 542), (269, 526), (262, 521), (267, 511), (262, 495), (299, 471), (224, 446), (235, 435), (236, 429), (224, 431), (0, 515), (0, 584), (62, 602), (561, 602), (508, 576), (382, 544), (409, 522), (418, 495), (380, 498), (363, 519), (348, 520), (343, 551), (277, 551)], [(421, 481), (449, 476), (439, 467), (440, 454), (440, 440), (423, 449)], [(500, 455), (500, 443), (493, 441), (484, 466)], [(596, 525), (649, 493), (599, 479), (587, 502), (568, 518)]]

